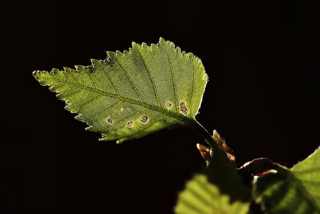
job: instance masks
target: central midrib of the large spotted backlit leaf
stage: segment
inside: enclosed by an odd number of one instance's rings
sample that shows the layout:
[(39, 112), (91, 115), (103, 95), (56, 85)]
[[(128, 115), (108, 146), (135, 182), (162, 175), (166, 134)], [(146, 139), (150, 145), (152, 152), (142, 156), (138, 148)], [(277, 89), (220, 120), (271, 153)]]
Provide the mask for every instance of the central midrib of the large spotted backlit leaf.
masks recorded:
[(146, 104), (146, 103), (139, 102), (139, 101), (136, 101), (136, 100), (132, 100), (132, 99), (129, 99), (129, 98), (125, 98), (125, 97), (122, 97), (120, 95), (115, 95), (115, 94), (107, 93), (107, 92), (104, 92), (104, 91), (100, 91), (98, 89), (94, 89), (94, 88), (90, 88), (90, 87), (87, 87), (87, 86), (84, 86), (84, 85), (80, 85), (79, 83), (75, 84), (75, 83), (72, 83), (72, 82), (69, 82), (69, 81), (65, 81), (65, 80), (61, 80), (61, 79), (56, 79), (56, 78), (52, 78), (52, 79), (55, 80), (55, 81), (59, 81), (59, 82), (63, 82), (63, 83), (69, 84), (69, 85), (77, 86), (77, 87), (80, 87), (80, 88), (83, 88), (83, 89), (86, 89), (86, 90), (89, 90), (89, 91), (93, 91), (93, 92), (99, 93), (99, 94), (101, 94), (103, 96), (117, 98), (117, 99), (122, 100), (124, 102), (128, 102), (128, 103), (131, 103), (131, 104), (135, 104), (135, 105), (139, 105), (139, 106), (145, 107), (145, 108), (153, 110), (153, 111), (157, 111), (157, 112), (162, 113), (162, 114), (164, 114), (166, 116), (178, 119), (181, 122), (186, 123), (186, 124), (191, 124), (193, 122), (193, 120), (194, 120), (193, 118), (190, 118), (190, 117), (187, 117), (187, 116), (183, 116), (183, 115), (179, 115), (179, 114), (170, 112), (170, 111), (168, 111), (166, 109), (163, 109), (163, 108), (160, 108), (160, 107), (157, 107), (157, 106), (154, 106), (154, 105), (150, 105), (150, 104)]

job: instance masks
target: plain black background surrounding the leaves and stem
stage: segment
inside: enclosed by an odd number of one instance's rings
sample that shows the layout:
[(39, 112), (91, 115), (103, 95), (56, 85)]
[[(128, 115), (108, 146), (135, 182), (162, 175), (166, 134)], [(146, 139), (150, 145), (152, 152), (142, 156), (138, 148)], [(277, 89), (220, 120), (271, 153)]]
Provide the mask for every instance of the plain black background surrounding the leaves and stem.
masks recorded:
[[(240, 3), (241, 2), (241, 3)], [(302, 1), (301, 1), (302, 2)], [(33, 70), (89, 65), (131, 42), (170, 40), (209, 76), (197, 120), (237, 164), (291, 167), (315, 137), (319, 22), (297, 2), (4, 3), (1, 13), (0, 211), (170, 213), (204, 162), (186, 128), (115, 145), (84, 131)], [(3, 119), (4, 118), (4, 119)]]

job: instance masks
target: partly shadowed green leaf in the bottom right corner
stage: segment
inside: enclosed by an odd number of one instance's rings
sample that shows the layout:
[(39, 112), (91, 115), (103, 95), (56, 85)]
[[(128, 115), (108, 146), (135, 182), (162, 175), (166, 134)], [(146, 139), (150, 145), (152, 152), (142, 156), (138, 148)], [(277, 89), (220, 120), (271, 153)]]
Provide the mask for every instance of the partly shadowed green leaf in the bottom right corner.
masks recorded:
[(253, 190), (269, 213), (320, 213), (320, 149), (291, 169), (259, 176)]

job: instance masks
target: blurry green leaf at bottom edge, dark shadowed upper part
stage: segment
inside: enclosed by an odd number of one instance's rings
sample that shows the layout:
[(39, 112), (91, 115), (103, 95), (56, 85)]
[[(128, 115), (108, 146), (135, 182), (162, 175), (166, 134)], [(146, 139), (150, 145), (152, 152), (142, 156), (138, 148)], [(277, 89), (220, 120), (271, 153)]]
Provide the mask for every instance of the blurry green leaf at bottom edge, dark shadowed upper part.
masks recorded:
[(186, 183), (178, 195), (175, 213), (247, 213), (250, 191), (231, 162), (214, 152), (209, 167)]

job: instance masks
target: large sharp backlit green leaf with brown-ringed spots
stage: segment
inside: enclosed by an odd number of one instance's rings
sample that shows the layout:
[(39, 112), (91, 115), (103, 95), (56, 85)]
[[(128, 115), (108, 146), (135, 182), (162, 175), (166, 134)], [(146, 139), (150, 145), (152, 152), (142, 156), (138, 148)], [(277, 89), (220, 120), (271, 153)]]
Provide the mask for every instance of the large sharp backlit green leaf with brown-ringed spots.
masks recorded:
[(188, 126), (198, 112), (207, 82), (201, 61), (160, 38), (76, 70), (34, 72), (65, 107), (86, 122), (100, 140), (117, 142), (173, 126)]

